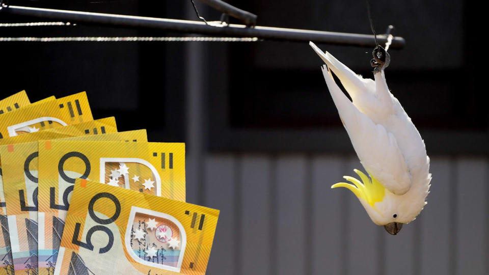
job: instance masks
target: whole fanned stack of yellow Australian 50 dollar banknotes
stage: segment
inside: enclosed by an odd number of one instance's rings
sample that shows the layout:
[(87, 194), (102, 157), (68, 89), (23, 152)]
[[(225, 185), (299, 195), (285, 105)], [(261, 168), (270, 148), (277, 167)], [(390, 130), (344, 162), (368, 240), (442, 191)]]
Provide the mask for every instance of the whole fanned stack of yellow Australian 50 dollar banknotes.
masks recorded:
[(185, 203), (185, 145), (94, 120), (85, 92), (0, 100), (0, 274), (204, 274), (219, 210)]

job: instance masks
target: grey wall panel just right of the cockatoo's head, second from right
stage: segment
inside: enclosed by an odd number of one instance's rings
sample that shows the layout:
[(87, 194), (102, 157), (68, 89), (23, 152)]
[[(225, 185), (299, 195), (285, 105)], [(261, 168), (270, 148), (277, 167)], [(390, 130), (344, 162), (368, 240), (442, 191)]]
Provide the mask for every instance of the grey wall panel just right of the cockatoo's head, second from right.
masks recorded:
[[(432, 157), (428, 204), (413, 223), (421, 224), (421, 274), (449, 274), (450, 259), (450, 183), (453, 167), (449, 157)], [(454, 192), (456, 190), (453, 190)]]

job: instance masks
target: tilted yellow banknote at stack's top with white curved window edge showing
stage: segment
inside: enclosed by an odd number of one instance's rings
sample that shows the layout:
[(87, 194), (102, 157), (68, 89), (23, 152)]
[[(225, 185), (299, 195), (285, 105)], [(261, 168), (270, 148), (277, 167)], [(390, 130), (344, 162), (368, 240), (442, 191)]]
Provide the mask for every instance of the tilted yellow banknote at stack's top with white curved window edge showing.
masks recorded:
[(2, 115), (0, 139), (91, 120), (92, 112), (85, 92), (43, 100)]

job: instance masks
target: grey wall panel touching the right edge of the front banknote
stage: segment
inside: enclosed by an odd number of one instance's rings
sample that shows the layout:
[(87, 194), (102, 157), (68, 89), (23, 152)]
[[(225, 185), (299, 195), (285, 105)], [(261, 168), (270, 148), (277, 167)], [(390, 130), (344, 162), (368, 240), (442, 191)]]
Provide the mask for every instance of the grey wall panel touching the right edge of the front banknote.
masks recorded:
[(208, 274), (233, 274), (237, 259), (235, 247), (235, 159), (233, 155), (213, 154), (205, 157), (205, 206), (219, 209)]

